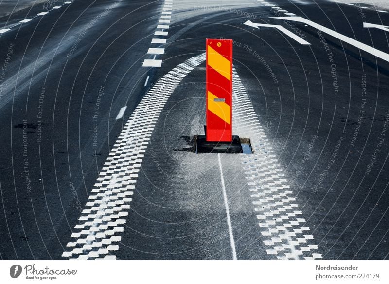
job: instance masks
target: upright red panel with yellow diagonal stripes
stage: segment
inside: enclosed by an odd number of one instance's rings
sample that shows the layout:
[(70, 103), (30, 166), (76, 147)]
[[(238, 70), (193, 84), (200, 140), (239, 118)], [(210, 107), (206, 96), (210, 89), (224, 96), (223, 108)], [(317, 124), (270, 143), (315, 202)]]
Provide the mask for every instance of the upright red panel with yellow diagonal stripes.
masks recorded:
[(206, 140), (232, 141), (232, 39), (207, 39)]

